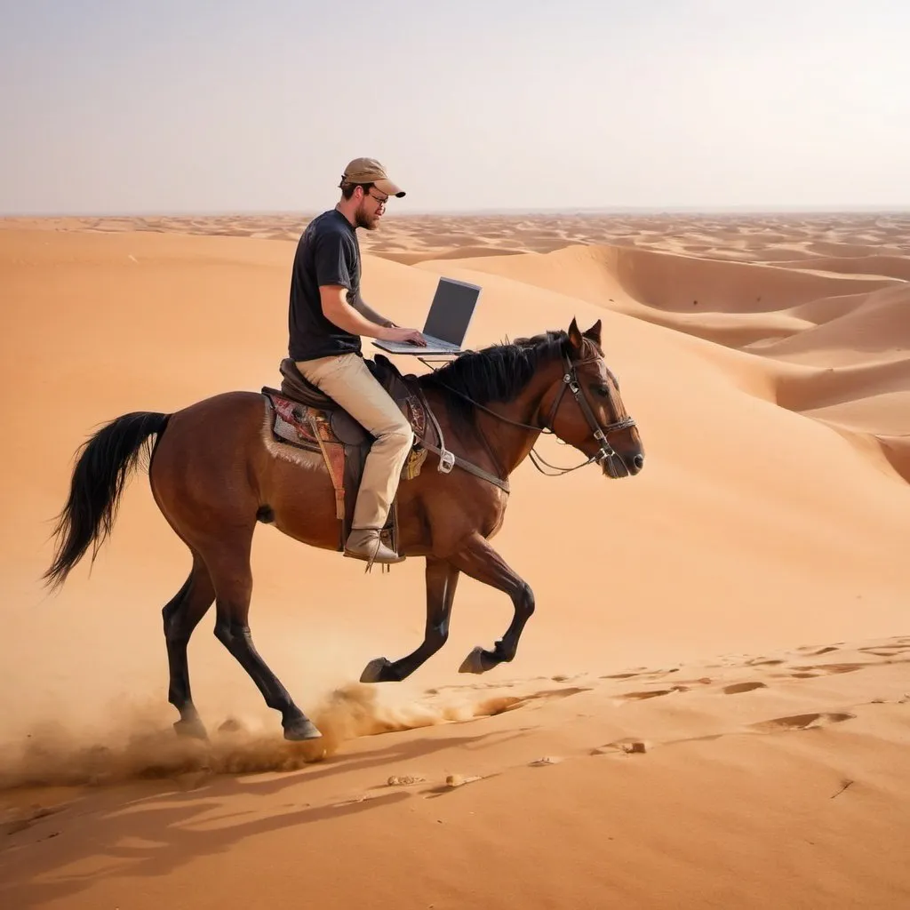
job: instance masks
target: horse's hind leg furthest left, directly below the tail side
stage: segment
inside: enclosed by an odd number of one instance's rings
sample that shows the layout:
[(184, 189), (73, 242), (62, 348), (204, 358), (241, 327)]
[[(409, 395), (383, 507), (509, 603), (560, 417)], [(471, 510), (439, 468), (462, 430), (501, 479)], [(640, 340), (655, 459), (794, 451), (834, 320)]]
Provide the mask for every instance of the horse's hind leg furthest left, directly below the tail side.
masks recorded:
[(170, 672), (167, 701), (180, 712), (180, 720), (174, 723), (174, 729), (181, 735), (198, 739), (207, 739), (207, 733), (190, 691), (187, 645), (214, 600), (215, 588), (206, 564), (194, 553), (193, 568), (187, 581), (161, 611)]

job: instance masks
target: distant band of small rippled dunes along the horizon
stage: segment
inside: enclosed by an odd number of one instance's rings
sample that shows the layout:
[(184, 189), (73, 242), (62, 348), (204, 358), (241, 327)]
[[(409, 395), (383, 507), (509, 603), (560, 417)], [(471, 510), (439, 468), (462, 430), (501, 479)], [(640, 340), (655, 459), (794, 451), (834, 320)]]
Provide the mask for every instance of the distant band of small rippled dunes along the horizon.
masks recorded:
[[(399, 211), (408, 211), (401, 207)], [(206, 216), (6, 218), (4, 228), (56, 231), (149, 231), (170, 234), (264, 237), (296, 240), (310, 216), (300, 212), (226, 213)], [(382, 230), (362, 238), (365, 249), (397, 246), (432, 258), (454, 249), (482, 246), (549, 252), (576, 243), (688, 252), (703, 258), (755, 262), (795, 258), (906, 258), (910, 217), (881, 214), (799, 213), (611, 213), (396, 215)], [(431, 242), (430, 242), (431, 241)]]

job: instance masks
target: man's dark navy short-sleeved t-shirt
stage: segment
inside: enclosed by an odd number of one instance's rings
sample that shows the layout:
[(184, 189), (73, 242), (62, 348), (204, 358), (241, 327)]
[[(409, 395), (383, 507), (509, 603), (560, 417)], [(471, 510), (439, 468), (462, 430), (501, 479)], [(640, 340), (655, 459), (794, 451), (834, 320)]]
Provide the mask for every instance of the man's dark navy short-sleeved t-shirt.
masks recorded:
[(326, 319), (319, 285), (348, 288), (351, 304), (360, 288), (357, 232), (334, 208), (313, 218), (298, 241), (290, 280), (288, 356), (292, 360), (313, 360), (360, 354), (359, 335), (352, 335)]

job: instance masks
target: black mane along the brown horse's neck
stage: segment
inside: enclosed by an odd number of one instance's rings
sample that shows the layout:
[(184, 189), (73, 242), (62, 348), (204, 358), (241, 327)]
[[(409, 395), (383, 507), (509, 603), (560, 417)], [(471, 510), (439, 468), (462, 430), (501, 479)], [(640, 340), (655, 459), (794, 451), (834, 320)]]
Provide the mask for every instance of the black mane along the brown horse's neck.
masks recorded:
[(420, 377), (425, 389), (454, 392), (466, 415), (490, 401), (510, 401), (531, 381), (541, 362), (561, 357), (569, 344), (566, 331), (548, 331), (510, 344), (490, 345), (462, 354), (441, 369)]

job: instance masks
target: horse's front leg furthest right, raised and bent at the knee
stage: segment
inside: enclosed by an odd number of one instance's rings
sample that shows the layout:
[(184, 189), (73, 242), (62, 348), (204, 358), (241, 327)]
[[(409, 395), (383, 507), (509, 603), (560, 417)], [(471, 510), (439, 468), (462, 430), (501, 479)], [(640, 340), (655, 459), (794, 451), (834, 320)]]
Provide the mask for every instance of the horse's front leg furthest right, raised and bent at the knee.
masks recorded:
[(534, 592), (531, 591), (531, 586), (516, 575), (500, 554), (478, 533), (473, 534), (468, 545), (451, 558), (451, 563), (471, 578), (489, 584), (498, 591), (505, 591), (515, 608), (509, 628), (500, 641), (496, 642), (493, 650), (486, 651), (478, 646), (464, 659), (459, 672), (482, 673), (502, 662), (511, 661), (518, 651), (524, 624), (534, 612)]

